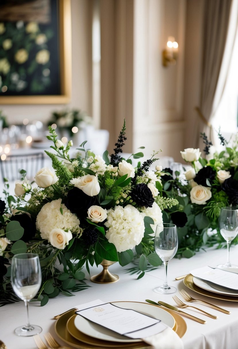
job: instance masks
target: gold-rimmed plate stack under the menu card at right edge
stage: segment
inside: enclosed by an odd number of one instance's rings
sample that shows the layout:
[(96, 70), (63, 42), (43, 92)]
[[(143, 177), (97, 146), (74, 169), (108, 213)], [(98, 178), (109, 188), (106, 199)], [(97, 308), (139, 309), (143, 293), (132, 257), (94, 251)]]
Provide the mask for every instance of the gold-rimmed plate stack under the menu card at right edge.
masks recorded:
[(238, 302), (238, 292), (220, 285), (216, 285), (212, 282), (198, 279), (197, 277), (189, 274), (184, 279), (184, 284), (190, 289), (200, 295), (230, 300), (232, 302)]

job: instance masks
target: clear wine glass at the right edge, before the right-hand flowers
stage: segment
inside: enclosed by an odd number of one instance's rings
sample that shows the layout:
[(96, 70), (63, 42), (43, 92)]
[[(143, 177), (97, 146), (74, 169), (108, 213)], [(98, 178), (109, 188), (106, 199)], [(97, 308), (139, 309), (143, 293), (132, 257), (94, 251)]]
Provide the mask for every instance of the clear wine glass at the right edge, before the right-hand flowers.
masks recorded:
[(225, 264), (220, 264), (217, 268), (238, 268), (238, 266), (230, 262), (230, 244), (238, 233), (238, 207), (222, 207), (219, 226), (221, 235), (226, 240), (227, 244), (227, 260)]

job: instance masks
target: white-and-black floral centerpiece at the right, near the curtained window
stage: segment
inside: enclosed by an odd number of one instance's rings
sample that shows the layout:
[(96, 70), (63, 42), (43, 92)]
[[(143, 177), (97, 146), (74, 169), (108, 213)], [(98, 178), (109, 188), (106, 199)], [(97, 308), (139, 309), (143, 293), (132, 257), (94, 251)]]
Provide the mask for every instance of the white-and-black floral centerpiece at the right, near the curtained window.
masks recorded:
[[(184, 161), (191, 167), (181, 178), (164, 169), (163, 195), (176, 198), (177, 206), (166, 210), (165, 221), (177, 225), (179, 248), (177, 255), (192, 257), (203, 246), (225, 246), (220, 235), (218, 218), (222, 207), (238, 205), (238, 140), (228, 142), (218, 133), (223, 150), (217, 152), (205, 134), (201, 134), (204, 157), (200, 149), (187, 148), (180, 151)], [(238, 242), (238, 238), (233, 240)]]

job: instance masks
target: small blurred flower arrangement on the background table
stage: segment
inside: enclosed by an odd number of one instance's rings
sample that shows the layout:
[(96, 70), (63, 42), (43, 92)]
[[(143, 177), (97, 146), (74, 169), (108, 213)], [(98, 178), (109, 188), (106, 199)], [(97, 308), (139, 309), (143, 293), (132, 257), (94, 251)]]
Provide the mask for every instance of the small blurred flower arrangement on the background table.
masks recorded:
[(85, 112), (77, 109), (54, 111), (48, 121), (48, 126), (56, 124), (60, 130), (67, 130), (70, 136), (75, 133), (73, 127), (78, 129), (92, 125), (92, 118)]

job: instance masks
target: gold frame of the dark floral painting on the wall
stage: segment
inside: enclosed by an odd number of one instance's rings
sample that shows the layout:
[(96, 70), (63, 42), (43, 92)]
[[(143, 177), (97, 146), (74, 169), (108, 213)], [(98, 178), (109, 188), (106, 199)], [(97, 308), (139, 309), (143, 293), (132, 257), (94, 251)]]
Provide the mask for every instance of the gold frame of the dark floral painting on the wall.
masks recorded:
[(58, 95), (0, 95), (1, 104), (66, 104), (72, 89), (72, 32), (71, 0), (59, 0), (59, 68), (60, 94)]

